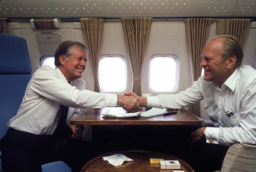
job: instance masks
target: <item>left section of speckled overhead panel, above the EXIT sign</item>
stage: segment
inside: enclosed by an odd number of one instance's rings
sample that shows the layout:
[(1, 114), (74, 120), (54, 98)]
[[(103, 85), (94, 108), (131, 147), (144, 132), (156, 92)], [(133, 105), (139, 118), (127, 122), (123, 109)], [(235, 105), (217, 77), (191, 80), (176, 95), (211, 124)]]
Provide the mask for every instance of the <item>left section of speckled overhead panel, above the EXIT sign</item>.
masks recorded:
[(76, 18), (104, 16), (103, 0), (1, 0), (0, 16)]

